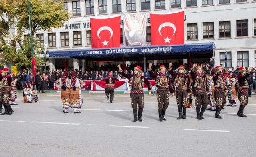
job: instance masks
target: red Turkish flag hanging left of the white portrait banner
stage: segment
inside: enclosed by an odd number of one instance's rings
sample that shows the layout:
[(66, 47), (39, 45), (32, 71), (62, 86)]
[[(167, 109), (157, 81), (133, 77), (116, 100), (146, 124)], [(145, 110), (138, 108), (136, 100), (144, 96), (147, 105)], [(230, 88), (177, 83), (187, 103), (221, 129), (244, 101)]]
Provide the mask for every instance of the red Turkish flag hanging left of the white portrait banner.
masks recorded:
[(120, 47), (121, 16), (112, 18), (91, 17), (91, 48)]

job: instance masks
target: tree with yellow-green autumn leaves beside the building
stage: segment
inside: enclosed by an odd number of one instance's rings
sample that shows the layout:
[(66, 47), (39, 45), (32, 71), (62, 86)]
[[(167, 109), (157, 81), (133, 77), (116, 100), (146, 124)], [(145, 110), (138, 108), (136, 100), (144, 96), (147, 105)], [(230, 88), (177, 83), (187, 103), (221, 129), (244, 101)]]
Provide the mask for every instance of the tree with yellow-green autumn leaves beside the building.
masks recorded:
[[(70, 18), (64, 10), (62, 0), (30, 0), (32, 37), (39, 30), (51, 32), (52, 28), (64, 26), (64, 21)], [(9, 24), (15, 21), (15, 34), (9, 33)], [(5, 64), (14, 64), (17, 67), (31, 67), (29, 34), (28, 0), (1, 0), (0, 3), (0, 53)], [(10, 40), (11, 39), (11, 40)], [(14, 44), (17, 43), (17, 44)], [(43, 65), (39, 54), (44, 52), (37, 41), (33, 41), (33, 53), (37, 67)]]

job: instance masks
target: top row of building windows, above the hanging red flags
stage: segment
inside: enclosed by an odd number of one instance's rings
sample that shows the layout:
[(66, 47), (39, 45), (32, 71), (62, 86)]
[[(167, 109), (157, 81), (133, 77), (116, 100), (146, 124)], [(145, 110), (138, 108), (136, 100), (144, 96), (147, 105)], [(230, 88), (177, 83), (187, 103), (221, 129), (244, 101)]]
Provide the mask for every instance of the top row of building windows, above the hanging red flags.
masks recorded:
[[(85, 0), (85, 14), (93, 15), (94, 14), (94, 4), (95, 0)], [(108, 13), (107, 9), (107, 1), (108, 0), (98, 0), (98, 10), (99, 14)], [(112, 2), (112, 13), (120, 13), (122, 12), (121, 7), (122, 0), (111, 0)], [(170, 8), (181, 8), (182, 0), (170, 0)], [(219, 4), (230, 4), (230, 0), (218, 0)], [(256, 1), (256, 0), (253, 0)], [(154, 0), (155, 9), (166, 9), (165, 0)], [(236, 3), (244, 3), (247, 0), (235, 0)], [(213, 0), (202, 0), (202, 6), (205, 5), (214, 5)], [(136, 11), (136, 0), (126, 0), (126, 11)], [(186, 0), (186, 7), (194, 7), (197, 6), (197, 0)], [(141, 10), (150, 10), (150, 0), (140, 0), (140, 8)], [(64, 9), (68, 10), (68, 2), (64, 2)], [(72, 1), (72, 14), (73, 16), (81, 16), (81, 2), (80, 1)]]

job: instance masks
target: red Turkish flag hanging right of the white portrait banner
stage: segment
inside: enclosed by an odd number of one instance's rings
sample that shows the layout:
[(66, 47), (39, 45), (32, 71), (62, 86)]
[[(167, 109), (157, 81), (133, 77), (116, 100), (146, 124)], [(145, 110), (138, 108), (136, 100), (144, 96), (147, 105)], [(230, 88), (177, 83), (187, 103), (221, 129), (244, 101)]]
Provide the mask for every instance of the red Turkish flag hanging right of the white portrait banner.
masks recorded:
[(150, 13), (151, 45), (184, 44), (184, 10)]

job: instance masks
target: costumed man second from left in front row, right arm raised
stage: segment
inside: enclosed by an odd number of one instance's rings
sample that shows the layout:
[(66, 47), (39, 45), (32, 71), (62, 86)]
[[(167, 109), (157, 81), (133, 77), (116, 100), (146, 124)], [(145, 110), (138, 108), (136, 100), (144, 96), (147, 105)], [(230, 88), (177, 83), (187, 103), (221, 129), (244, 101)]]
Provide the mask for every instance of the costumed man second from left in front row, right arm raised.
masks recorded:
[[(166, 121), (165, 119), (165, 112), (169, 105), (169, 90), (170, 88), (169, 82), (171, 80), (170, 77), (166, 76), (166, 67), (164, 65), (161, 65), (158, 69), (159, 74), (152, 72), (152, 63), (149, 63), (147, 71), (149, 72), (149, 75), (155, 79), (155, 86), (157, 87), (156, 90), (156, 98), (158, 102), (158, 115), (159, 115), (159, 121)], [(174, 94), (174, 90), (171, 90), (171, 94)]]

